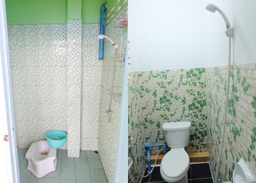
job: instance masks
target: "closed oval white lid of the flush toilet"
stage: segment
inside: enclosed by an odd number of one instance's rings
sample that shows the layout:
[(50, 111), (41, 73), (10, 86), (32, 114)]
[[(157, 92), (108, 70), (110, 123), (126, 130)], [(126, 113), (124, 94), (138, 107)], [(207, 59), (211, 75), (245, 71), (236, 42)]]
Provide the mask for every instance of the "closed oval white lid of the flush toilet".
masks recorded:
[(182, 149), (172, 149), (164, 155), (161, 162), (162, 173), (166, 177), (177, 178), (183, 175), (189, 167), (188, 153)]

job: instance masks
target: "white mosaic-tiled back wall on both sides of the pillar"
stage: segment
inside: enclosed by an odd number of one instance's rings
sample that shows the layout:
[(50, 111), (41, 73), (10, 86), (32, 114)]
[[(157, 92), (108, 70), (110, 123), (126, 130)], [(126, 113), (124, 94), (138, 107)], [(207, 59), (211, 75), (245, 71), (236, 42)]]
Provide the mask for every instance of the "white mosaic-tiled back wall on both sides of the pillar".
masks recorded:
[[(97, 150), (102, 70), (99, 24), (83, 24), (81, 31), (80, 148)], [(8, 38), (17, 145), (28, 148), (44, 139), (48, 130), (68, 131), (67, 24), (8, 26)]]

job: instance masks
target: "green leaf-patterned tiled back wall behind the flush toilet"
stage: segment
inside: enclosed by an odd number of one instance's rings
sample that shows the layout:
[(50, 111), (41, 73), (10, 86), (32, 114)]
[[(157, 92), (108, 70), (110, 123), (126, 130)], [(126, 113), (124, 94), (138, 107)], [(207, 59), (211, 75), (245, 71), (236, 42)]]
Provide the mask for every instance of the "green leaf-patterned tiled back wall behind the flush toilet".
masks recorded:
[[(188, 152), (207, 150), (205, 69), (159, 70), (129, 74), (129, 157), (145, 170), (145, 142), (164, 143), (164, 122), (192, 122)], [(134, 166), (129, 182), (140, 177)]]

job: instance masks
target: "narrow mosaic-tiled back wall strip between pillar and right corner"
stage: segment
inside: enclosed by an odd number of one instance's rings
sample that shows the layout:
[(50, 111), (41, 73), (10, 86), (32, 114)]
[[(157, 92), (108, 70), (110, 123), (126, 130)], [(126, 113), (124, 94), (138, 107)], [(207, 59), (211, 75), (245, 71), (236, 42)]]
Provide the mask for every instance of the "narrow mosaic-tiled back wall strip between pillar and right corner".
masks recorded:
[(99, 24), (82, 25), (81, 150), (98, 149), (102, 70), (98, 35)]

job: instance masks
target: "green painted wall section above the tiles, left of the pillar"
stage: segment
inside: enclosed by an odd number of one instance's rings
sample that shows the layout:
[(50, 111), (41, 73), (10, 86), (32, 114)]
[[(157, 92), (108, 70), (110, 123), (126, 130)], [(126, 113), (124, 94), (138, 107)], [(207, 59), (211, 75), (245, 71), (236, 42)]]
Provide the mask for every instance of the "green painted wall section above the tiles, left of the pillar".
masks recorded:
[(6, 0), (8, 24), (65, 24), (67, 0)]

